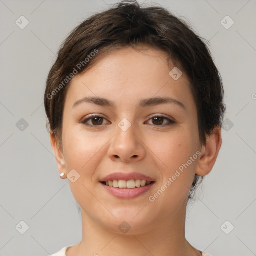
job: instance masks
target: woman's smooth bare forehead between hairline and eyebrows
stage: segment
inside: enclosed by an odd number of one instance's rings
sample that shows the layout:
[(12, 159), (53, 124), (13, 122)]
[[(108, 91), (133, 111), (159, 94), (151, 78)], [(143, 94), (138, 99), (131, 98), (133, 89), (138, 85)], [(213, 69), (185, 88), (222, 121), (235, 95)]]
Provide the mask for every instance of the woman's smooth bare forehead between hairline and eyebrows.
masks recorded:
[[(175, 66), (171, 61), (167, 65), (167, 59), (167, 53), (156, 48), (114, 50), (72, 78), (66, 100), (71, 103), (84, 96), (125, 100), (126, 103), (153, 96), (191, 100), (185, 73), (173, 79), (169, 72)], [(182, 70), (181, 66), (178, 68)]]

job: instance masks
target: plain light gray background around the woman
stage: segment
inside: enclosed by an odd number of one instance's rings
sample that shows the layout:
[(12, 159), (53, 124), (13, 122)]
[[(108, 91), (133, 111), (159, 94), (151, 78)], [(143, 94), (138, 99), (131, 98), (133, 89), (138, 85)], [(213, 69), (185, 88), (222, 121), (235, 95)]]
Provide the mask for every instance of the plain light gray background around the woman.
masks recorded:
[[(81, 239), (80, 213), (67, 179), (58, 176), (52, 155), (43, 93), (46, 76), (67, 33), (115, 2), (0, 0), (2, 256), (48, 255)], [(186, 237), (212, 256), (256, 255), (256, 2), (155, 2), (188, 20), (195, 31), (210, 40), (225, 88), (227, 130), (222, 132), (217, 162), (197, 190), (197, 201), (188, 208)], [(15, 24), (21, 15), (29, 21), (24, 29)], [(226, 15), (234, 21), (229, 29), (221, 24)], [(231, 24), (225, 20), (222, 22)], [(16, 125), (21, 118), (28, 123), (23, 130), (22, 120)], [(20, 227), (21, 220), (29, 226), (24, 234), (19, 233), (25, 228), (22, 223)], [(226, 220), (230, 223), (221, 229)], [(234, 229), (224, 233), (231, 225)]]

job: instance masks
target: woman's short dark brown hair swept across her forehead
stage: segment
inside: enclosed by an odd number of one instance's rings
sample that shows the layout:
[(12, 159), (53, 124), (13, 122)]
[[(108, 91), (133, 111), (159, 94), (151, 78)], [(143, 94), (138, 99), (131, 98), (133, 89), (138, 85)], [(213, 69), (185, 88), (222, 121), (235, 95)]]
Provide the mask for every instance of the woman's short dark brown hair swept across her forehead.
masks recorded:
[[(225, 111), (222, 80), (210, 51), (184, 21), (162, 7), (142, 8), (136, 0), (121, 1), (92, 15), (61, 45), (57, 60), (49, 71), (44, 94), (49, 127), (57, 140), (61, 141), (63, 108), (71, 74), (88, 70), (104, 53), (143, 44), (167, 52), (189, 77), (197, 107), (200, 141), (205, 144), (206, 135), (221, 126)], [(91, 57), (96, 51), (97, 54)], [(85, 61), (86, 58), (89, 61)], [(195, 175), (189, 199), (200, 178)]]

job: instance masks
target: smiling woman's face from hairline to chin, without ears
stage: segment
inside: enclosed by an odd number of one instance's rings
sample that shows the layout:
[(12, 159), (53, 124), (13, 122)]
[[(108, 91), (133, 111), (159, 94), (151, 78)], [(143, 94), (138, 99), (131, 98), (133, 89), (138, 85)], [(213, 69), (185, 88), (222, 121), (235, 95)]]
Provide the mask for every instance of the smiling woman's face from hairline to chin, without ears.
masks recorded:
[(84, 216), (114, 232), (123, 221), (134, 233), (153, 229), (185, 209), (200, 154), (197, 111), (185, 73), (176, 79), (166, 63), (161, 50), (125, 47), (76, 75), (66, 94), (71, 191)]

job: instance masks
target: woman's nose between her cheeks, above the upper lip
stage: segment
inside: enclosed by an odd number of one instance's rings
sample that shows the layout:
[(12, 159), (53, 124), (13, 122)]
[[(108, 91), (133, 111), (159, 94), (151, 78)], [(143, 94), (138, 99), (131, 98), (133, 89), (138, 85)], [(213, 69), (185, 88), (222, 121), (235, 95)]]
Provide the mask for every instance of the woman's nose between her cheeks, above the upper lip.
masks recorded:
[(108, 157), (113, 161), (133, 162), (145, 157), (145, 144), (140, 135), (141, 132), (135, 124), (130, 124), (127, 130), (122, 126), (116, 126), (116, 134), (108, 148)]

